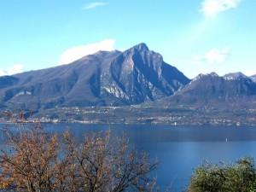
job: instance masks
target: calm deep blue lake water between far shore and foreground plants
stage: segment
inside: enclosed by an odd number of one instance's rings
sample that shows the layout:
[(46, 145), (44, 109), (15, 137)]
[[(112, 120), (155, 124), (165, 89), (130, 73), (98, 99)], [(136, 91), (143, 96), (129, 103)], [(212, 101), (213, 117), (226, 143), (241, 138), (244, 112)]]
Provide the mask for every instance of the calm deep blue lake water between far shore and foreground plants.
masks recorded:
[(111, 130), (129, 137), (131, 147), (146, 151), (160, 165), (155, 172), (162, 188), (184, 191), (189, 178), (204, 160), (234, 162), (256, 158), (256, 127), (172, 126), (172, 125), (45, 125), (49, 131), (69, 130), (78, 139), (90, 131)]

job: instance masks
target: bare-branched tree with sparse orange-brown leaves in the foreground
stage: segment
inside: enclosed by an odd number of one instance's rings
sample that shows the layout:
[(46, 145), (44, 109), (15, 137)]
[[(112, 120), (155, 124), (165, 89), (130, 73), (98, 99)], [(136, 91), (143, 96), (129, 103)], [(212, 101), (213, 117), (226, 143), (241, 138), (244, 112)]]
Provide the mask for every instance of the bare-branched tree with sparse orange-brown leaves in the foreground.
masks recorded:
[(109, 133), (76, 143), (66, 132), (49, 135), (40, 127), (5, 129), (0, 154), (1, 191), (121, 192), (156, 191), (149, 176), (157, 163), (127, 147), (125, 138)]

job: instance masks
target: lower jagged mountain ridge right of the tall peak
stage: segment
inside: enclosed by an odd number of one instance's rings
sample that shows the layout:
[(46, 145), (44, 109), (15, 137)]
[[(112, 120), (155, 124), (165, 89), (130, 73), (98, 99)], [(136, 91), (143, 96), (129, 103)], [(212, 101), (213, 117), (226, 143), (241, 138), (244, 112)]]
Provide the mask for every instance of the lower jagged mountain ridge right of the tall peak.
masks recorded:
[(163, 106), (252, 107), (256, 106), (256, 84), (242, 73), (224, 77), (217, 73), (200, 74), (174, 96), (160, 100), (157, 105), (160, 103)]

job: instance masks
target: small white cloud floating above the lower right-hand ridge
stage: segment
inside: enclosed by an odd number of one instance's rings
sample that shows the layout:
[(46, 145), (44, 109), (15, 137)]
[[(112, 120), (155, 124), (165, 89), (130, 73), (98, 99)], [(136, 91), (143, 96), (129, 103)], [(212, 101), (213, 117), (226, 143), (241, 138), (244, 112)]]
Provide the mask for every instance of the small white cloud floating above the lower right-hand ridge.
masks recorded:
[(207, 63), (223, 63), (227, 61), (230, 56), (230, 51), (227, 48), (224, 49), (211, 49), (204, 55), (194, 55), (194, 62), (207, 62)]

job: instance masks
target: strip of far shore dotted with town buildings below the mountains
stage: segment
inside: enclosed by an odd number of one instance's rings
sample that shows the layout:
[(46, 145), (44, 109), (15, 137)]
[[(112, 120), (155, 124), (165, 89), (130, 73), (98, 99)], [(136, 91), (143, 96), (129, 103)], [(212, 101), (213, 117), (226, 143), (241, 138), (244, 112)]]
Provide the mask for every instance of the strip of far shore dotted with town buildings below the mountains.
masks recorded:
[[(163, 125), (256, 125), (255, 109), (217, 108), (151, 108), (151, 107), (105, 107), (105, 108), (54, 108), (43, 112), (3, 111), (0, 122), (20, 123), (81, 123), (81, 124), (163, 124)], [(17, 119), (17, 118), (15, 118)], [(19, 123), (19, 122), (18, 122)]]

